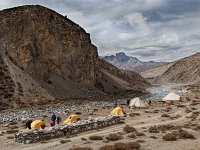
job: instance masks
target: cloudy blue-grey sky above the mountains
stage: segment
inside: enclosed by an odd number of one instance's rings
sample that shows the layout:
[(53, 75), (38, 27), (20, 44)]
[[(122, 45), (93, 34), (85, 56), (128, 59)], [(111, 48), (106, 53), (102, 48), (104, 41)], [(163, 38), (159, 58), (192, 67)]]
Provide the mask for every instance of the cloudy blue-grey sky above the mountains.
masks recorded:
[(200, 52), (200, 0), (0, 0), (0, 10), (27, 4), (67, 15), (101, 56), (172, 61)]

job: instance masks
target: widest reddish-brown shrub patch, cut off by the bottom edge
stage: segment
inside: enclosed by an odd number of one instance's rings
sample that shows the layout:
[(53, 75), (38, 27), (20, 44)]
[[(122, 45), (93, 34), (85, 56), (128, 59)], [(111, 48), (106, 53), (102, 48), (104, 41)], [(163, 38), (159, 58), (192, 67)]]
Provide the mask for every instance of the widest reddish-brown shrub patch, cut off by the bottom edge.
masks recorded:
[(102, 146), (99, 150), (131, 150), (140, 149), (140, 144), (138, 142), (130, 143), (115, 143), (114, 145)]

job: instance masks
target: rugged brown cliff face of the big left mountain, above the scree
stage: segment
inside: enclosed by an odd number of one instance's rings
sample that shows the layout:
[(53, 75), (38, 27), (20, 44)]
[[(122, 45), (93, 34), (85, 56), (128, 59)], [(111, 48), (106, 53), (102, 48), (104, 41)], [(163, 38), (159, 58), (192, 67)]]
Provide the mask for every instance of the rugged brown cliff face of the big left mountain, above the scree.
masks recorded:
[(32, 77), (48, 81), (56, 73), (76, 82), (95, 82), (97, 49), (77, 24), (41, 6), (1, 11), (0, 20), (7, 55)]

